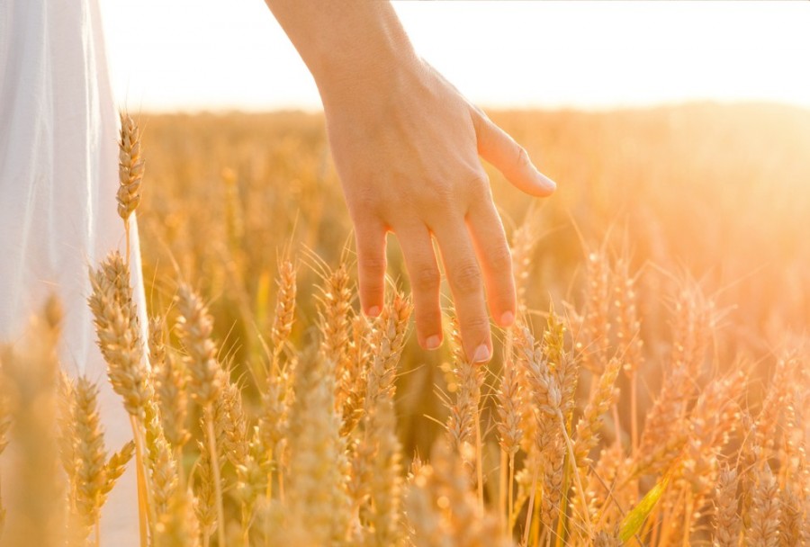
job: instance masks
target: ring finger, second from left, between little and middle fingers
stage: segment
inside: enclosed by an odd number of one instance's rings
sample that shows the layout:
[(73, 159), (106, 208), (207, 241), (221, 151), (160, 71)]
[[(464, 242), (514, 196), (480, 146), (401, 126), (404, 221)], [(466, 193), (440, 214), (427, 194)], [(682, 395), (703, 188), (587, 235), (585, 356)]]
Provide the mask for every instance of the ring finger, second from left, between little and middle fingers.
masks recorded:
[(442, 344), (442, 312), (439, 308), (441, 273), (433, 251), (433, 241), (424, 225), (397, 231), (413, 292), (419, 345), (436, 349)]

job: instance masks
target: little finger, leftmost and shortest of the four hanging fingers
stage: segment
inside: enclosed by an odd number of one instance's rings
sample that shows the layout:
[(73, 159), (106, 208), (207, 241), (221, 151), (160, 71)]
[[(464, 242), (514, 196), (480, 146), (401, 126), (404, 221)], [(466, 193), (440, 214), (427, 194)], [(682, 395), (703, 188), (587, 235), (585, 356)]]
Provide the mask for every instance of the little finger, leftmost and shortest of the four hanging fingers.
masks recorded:
[(368, 317), (383, 310), (385, 291), (385, 229), (368, 222), (355, 227), (357, 276), (360, 283), (360, 305)]

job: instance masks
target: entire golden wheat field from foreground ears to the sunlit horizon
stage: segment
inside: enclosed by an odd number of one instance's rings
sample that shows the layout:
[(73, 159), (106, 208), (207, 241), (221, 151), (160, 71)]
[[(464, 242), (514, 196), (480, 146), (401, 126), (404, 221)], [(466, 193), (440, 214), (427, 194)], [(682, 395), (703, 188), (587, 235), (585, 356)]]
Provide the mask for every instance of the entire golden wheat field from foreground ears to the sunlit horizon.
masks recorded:
[(131, 466), (141, 545), (806, 544), (810, 112), (491, 117), (559, 190), (490, 172), (521, 312), (486, 366), (449, 298), (440, 350), (410, 336), (394, 236), (359, 312), (321, 116), (123, 118), (148, 337), (126, 256), (88, 305), (133, 440), (105, 446), (97, 386), (59, 372), (49, 301), (0, 352), (29, 492), (3, 543), (99, 544)]

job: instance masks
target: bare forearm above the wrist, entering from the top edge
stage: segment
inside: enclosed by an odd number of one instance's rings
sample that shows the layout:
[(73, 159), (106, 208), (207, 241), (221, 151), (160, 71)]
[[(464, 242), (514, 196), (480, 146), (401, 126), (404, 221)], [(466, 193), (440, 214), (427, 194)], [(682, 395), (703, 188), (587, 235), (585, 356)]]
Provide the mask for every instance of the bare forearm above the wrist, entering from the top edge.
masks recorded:
[(380, 80), (411, 59), (410, 40), (389, 2), (266, 0), (309, 67), (326, 102)]

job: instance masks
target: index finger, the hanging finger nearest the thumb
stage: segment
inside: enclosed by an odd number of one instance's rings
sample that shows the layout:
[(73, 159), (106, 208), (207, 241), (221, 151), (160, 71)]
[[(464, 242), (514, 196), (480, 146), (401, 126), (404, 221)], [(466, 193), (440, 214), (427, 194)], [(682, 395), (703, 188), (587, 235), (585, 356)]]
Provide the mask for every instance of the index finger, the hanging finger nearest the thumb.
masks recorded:
[(515, 320), (517, 309), (512, 255), (503, 224), (491, 199), (471, 205), (467, 213), (467, 227), (482, 265), (492, 318), (501, 327), (509, 327)]

